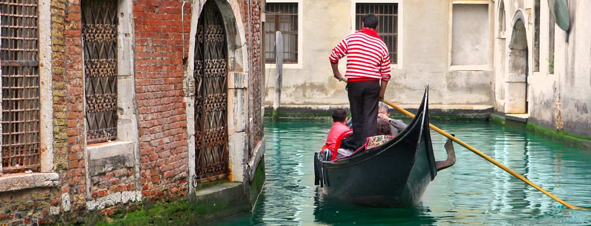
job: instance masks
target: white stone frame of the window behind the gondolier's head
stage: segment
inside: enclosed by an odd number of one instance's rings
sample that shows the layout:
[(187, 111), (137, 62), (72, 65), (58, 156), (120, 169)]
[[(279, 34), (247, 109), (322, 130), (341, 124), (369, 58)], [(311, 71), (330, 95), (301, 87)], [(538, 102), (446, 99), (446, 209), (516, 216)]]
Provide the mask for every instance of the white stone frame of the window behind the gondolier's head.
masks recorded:
[[(356, 25), (356, 9), (357, 9), (357, 4), (398, 4), (398, 23), (397, 23), (397, 35), (396, 35), (396, 48), (397, 48), (397, 53), (396, 53), (396, 58), (397, 61), (396, 63), (390, 63), (390, 67), (392, 69), (401, 69), (402, 65), (403, 65), (403, 43), (404, 43), (404, 27), (403, 27), (403, 22), (404, 21), (404, 0), (351, 0), (351, 21), (350, 21), (350, 26), (351, 26), (351, 33), (356, 32), (355, 30), (355, 25)], [(378, 25), (379, 26), (379, 25)]]

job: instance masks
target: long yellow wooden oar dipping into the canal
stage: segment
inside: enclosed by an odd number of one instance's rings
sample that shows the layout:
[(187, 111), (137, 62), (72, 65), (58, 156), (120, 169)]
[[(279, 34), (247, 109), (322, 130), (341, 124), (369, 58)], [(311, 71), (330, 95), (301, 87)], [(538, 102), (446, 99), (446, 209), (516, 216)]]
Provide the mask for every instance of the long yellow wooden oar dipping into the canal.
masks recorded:
[[(414, 114), (408, 112), (407, 110), (404, 110), (402, 107), (398, 107), (396, 104), (391, 103), (388, 100), (382, 100), (382, 102), (384, 102), (385, 104), (388, 104), (391, 107), (394, 107), (394, 109), (402, 112), (403, 114), (406, 114), (408, 117), (413, 117), (414, 118)], [(531, 182), (530, 180), (524, 178), (524, 176), (519, 175), (519, 173), (516, 173), (515, 171), (512, 171), (512, 169), (509, 169), (507, 166), (501, 164), (500, 162), (497, 162), (495, 159), (489, 157), (488, 155), (485, 155), (485, 153), (480, 152), (479, 150), (472, 148), (472, 146), (468, 145), (467, 143), (464, 143), (462, 140), (457, 139), (457, 137), (454, 137), (452, 135), (450, 135), (449, 133), (446, 133), (445, 131), (439, 129), (437, 126), (433, 126), (431, 123), (429, 123), (429, 127), (435, 131), (437, 131), (437, 133), (441, 133), (441, 135), (453, 140), (454, 142), (458, 143), (459, 145), (462, 145), (464, 148), (476, 153), (476, 155), (479, 155), (480, 157), (486, 159), (486, 161), (489, 161), (493, 164), (495, 164), (496, 166), (498, 166), (499, 168), (503, 169), (504, 171), (511, 173), (511, 175), (515, 176), (516, 178), (520, 179), (521, 181), (525, 182), (525, 184), (528, 184), (532, 187), (534, 187), (535, 189), (538, 189), (539, 191), (543, 192), (544, 194), (550, 196), (550, 198), (553, 198), (554, 200), (560, 202), (560, 204), (570, 208), (570, 209), (584, 209), (584, 210), (591, 210), (590, 208), (585, 208), (585, 207), (577, 207), (576, 205), (571, 205), (568, 204), (565, 201), (562, 201), (562, 199), (558, 198), (557, 196), (554, 196), (553, 194), (550, 194), (550, 192), (544, 190), (543, 188), (541, 188), (540, 186), (534, 184), (534, 182)]]

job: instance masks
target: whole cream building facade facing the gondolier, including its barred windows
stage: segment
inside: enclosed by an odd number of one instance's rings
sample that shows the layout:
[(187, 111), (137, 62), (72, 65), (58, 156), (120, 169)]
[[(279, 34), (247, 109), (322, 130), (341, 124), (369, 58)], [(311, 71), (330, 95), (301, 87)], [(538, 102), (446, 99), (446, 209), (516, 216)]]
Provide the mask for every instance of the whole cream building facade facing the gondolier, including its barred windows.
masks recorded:
[[(274, 97), (272, 40), (281, 31), (281, 109), (348, 107), (346, 84), (333, 78), (328, 57), (342, 38), (360, 29), (363, 15), (372, 12), (390, 52), (386, 99), (417, 107), (428, 83), (431, 109), (491, 113), (494, 21), (489, 18), (494, 6), (492, 1), (268, 0), (265, 103)], [(343, 72), (345, 63), (345, 58), (339, 61)]]

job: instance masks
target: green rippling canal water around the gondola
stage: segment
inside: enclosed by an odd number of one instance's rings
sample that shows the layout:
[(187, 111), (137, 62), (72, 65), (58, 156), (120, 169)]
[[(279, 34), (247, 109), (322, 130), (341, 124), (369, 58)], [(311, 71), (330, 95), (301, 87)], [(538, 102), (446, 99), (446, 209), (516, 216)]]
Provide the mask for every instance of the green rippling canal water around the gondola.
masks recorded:
[[(591, 207), (591, 150), (490, 122), (431, 123), (558, 198)], [(457, 144), (456, 165), (437, 173), (417, 207), (367, 208), (336, 201), (314, 185), (312, 162), (330, 125), (329, 120), (265, 122), (267, 182), (256, 206), (252, 213), (215, 224), (591, 225), (591, 211), (567, 209)], [(445, 159), (445, 137), (434, 131), (431, 137), (436, 159)]]

